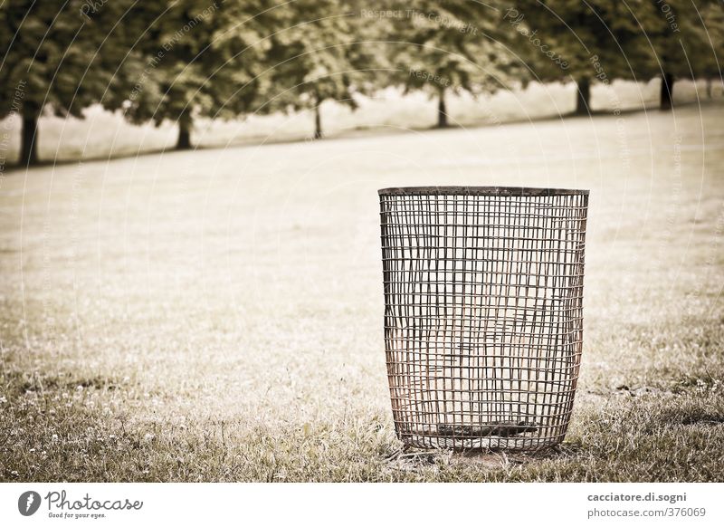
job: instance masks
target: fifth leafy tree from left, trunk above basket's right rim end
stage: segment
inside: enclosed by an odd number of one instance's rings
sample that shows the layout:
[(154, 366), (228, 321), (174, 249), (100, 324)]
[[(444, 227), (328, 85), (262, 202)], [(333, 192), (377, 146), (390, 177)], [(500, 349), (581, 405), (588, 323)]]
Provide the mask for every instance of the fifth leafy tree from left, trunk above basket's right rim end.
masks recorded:
[(641, 1), (521, 0), (504, 18), (525, 39), (516, 49), (538, 81), (576, 83), (576, 114), (590, 112), (593, 81), (648, 79), (653, 53), (636, 14)]

